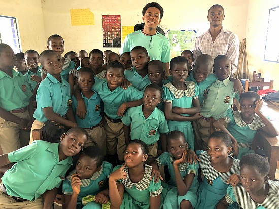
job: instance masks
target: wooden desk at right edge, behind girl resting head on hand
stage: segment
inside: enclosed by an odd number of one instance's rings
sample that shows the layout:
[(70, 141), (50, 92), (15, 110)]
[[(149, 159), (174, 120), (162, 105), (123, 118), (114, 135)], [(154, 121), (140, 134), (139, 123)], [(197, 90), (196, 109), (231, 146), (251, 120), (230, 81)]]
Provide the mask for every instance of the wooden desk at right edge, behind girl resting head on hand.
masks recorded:
[[(266, 117), (269, 117), (274, 127), (279, 130), (279, 106), (275, 106), (268, 101), (264, 101), (264, 106), (262, 107), (261, 112)], [(270, 172), (268, 176), (269, 179), (274, 180), (277, 168), (277, 161), (279, 161), (279, 136), (271, 137), (263, 131), (259, 130), (254, 138), (254, 141), (257, 146), (265, 151), (270, 164)]]

